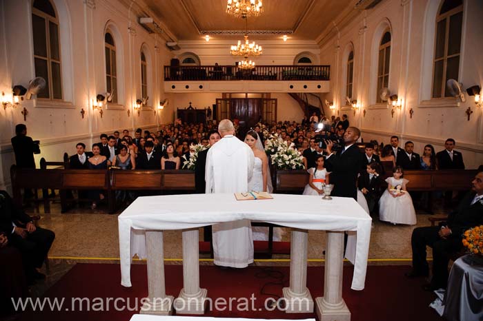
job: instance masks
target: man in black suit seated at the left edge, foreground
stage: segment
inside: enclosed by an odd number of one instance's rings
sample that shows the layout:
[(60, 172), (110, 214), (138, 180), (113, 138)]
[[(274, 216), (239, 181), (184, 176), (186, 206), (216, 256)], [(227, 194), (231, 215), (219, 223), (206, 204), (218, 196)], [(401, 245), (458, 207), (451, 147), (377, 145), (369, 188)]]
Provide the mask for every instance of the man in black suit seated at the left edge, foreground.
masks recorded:
[(6, 191), (0, 191), (0, 233), (5, 234), (9, 244), (21, 252), (28, 283), (45, 278), (37, 269), (42, 266), (55, 234), (35, 227), (32, 218), (14, 206)]

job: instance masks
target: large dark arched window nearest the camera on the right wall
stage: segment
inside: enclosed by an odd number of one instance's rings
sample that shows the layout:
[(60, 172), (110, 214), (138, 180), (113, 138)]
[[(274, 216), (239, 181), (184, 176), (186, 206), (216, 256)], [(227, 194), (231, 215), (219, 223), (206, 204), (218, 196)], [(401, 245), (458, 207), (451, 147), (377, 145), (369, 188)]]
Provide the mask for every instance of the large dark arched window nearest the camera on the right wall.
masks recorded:
[(442, 1), (436, 17), (433, 98), (451, 96), (446, 92), (446, 81), (458, 79), (462, 24), (463, 1)]

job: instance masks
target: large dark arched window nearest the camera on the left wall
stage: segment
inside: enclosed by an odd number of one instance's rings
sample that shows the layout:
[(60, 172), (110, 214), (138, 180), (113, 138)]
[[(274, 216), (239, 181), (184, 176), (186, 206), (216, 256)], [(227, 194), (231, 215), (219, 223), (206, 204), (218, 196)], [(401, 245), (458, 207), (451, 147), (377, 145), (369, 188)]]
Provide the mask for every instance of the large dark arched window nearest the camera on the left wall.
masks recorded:
[(63, 99), (59, 41), (59, 17), (49, 0), (34, 0), (32, 5), (35, 76), (46, 80), (38, 98)]

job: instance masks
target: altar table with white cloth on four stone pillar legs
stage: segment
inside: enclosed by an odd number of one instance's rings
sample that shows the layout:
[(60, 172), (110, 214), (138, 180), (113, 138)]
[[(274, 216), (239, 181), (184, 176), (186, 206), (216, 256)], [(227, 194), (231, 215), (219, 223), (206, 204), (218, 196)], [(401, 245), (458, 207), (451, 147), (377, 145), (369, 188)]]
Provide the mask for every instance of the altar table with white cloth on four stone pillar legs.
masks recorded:
[[(304, 299), (306, 307), (289, 307), (288, 313), (312, 312), (313, 300), (306, 287), (308, 230), (325, 230), (326, 262), (324, 297), (317, 298), (319, 320), (350, 320), (342, 299), (344, 231), (349, 234), (346, 256), (354, 263), (351, 289), (364, 289), (371, 217), (353, 198), (322, 200), (320, 196), (272, 194), (273, 200), (237, 201), (233, 194), (190, 194), (146, 196), (135, 200), (119, 215), (121, 284), (131, 287), (130, 260), (133, 249), (144, 246), (143, 238), (132, 238), (132, 231), (146, 231), (148, 256), (148, 298), (141, 313), (170, 314), (173, 298), (166, 296), (163, 231), (182, 229), (184, 288), (175, 307), (179, 313), (204, 313), (206, 289), (199, 288), (198, 228), (233, 220), (257, 220), (292, 227), (290, 249), (290, 287), (284, 288), (287, 302)], [(139, 234), (138, 234), (139, 235)], [(138, 242), (138, 244), (135, 244)], [(141, 242), (141, 244), (139, 244)], [(141, 246), (141, 247), (140, 247)], [(166, 298), (153, 304), (154, 298)], [(196, 299), (196, 300), (195, 300)], [(190, 302), (190, 303), (188, 303)], [(198, 303), (196, 303), (198, 302)]]

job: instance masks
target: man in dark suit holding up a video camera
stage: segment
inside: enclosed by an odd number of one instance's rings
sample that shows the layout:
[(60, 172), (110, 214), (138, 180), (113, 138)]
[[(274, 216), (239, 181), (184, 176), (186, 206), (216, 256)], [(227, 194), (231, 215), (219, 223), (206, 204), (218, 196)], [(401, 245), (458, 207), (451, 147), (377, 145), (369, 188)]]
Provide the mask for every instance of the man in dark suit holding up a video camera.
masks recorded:
[(331, 172), (331, 184), (334, 184), (333, 196), (351, 197), (357, 200), (357, 175), (359, 174), (364, 156), (355, 142), (361, 136), (357, 127), (348, 127), (344, 134), (344, 149), (333, 154), (333, 141), (326, 140), (327, 154), (325, 165)]

